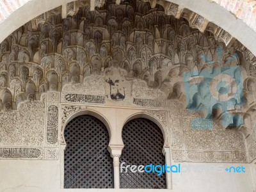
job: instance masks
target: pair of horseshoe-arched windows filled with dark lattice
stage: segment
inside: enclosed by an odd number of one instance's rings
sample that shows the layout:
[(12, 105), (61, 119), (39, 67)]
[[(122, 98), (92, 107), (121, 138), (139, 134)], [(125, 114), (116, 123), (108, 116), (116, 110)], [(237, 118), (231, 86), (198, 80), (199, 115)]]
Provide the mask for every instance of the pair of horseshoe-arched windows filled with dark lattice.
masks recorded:
[[(77, 116), (64, 132), (64, 188), (113, 188), (113, 159), (108, 152), (109, 134), (99, 119)], [(120, 163), (126, 165), (164, 164), (163, 134), (156, 124), (137, 118), (122, 130), (124, 149)], [(165, 173), (120, 173), (120, 188), (164, 189)]]

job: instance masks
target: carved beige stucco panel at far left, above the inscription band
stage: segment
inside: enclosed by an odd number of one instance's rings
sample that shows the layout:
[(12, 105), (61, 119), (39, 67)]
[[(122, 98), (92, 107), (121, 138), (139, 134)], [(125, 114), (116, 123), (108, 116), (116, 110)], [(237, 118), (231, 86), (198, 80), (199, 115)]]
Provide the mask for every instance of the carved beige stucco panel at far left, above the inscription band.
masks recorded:
[(24, 102), (19, 111), (0, 114), (0, 145), (42, 146), (44, 143), (45, 104)]

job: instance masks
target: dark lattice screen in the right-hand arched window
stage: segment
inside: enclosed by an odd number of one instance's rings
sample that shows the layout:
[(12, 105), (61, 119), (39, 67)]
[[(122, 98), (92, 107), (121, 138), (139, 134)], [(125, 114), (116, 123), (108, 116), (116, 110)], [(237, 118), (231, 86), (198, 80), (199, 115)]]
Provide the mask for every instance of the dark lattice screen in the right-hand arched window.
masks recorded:
[[(161, 129), (144, 118), (137, 118), (128, 122), (122, 131), (124, 149), (120, 163), (125, 165), (147, 165), (165, 163), (162, 153), (164, 139)], [(166, 189), (165, 173), (132, 173), (128, 169), (120, 173), (120, 187), (130, 189)]]

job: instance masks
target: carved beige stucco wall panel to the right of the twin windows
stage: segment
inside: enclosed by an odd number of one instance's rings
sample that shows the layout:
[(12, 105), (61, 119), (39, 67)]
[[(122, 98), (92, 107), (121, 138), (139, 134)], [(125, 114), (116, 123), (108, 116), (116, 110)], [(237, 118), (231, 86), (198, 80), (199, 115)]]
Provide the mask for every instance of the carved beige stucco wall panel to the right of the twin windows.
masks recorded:
[[(170, 102), (173, 159), (188, 162), (246, 162), (244, 136), (214, 122), (211, 130), (193, 130), (191, 121), (201, 113), (189, 113), (179, 102)], [(234, 142), (236, 140), (236, 142)]]

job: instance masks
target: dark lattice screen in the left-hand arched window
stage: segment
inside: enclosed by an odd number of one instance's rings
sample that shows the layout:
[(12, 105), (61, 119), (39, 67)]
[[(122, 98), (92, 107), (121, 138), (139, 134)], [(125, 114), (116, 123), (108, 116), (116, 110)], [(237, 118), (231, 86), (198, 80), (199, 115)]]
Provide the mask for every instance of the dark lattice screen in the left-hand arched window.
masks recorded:
[(113, 159), (105, 125), (93, 116), (77, 116), (64, 135), (64, 188), (113, 188)]

